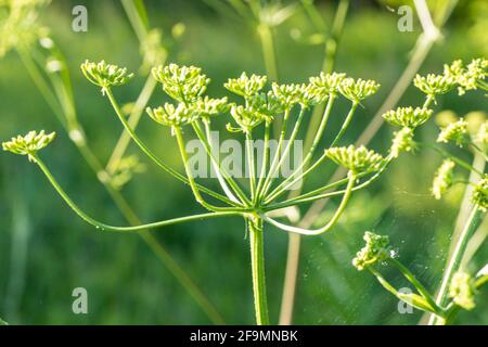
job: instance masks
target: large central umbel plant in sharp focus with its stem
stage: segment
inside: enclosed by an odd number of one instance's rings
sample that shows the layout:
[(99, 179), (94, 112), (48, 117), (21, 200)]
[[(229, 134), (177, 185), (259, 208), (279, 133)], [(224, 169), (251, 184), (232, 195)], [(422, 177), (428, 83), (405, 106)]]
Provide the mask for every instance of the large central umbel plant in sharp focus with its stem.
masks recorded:
[[(184, 175), (163, 163), (156, 154), (138, 137), (128, 124), (113, 90), (129, 82), (132, 75), (126, 68), (105, 62), (86, 61), (81, 70), (87, 79), (101, 89), (107, 98), (116, 116), (133, 142), (155, 165), (190, 187), (195, 201), (207, 211), (174, 219), (156, 221), (134, 227), (115, 227), (102, 223), (87, 215), (57, 183), (48, 166), (41, 159), (39, 151), (44, 149), (54, 138), (43, 131), (29, 132), (25, 137), (16, 137), (3, 143), (3, 150), (14, 154), (27, 155), (30, 162), (38, 165), (52, 187), (68, 206), (85, 221), (102, 231), (134, 232), (159, 228), (184, 221), (204, 220), (218, 217), (240, 216), (244, 219), (251, 244), (251, 265), (253, 274), (253, 292), (255, 298), (256, 322), (268, 324), (268, 301), (265, 281), (264, 226), (269, 223), (275, 228), (305, 235), (318, 235), (333, 230), (335, 223), (346, 209), (355, 191), (364, 189), (374, 182), (387, 169), (400, 152), (411, 151), (411, 138), (416, 127), (432, 114), (427, 108), (406, 108), (393, 115), (399, 124), (408, 120), (409, 131), (399, 131), (393, 142), (391, 150), (382, 156), (364, 146), (339, 146), (343, 134), (352, 123), (354, 115), (363, 100), (373, 95), (380, 85), (372, 80), (352, 79), (345, 74), (324, 74), (311, 77), (308, 83), (278, 85), (272, 82), (267, 88), (267, 77), (243, 73), (237, 78), (230, 78), (224, 88), (241, 99), (240, 103), (230, 102), (228, 98), (215, 99), (205, 94), (209, 78), (195, 66), (178, 66), (170, 64), (157, 66), (152, 75), (160, 83), (163, 91), (174, 101), (157, 107), (147, 107), (146, 113), (157, 124), (170, 128), (181, 156)], [(335, 102), (344, 98), (349, 101), (349, 112), (343, 117), (343, 126), (335, 134), (326, 133), (331, 117), (339, 117), (334, 110)], [(303, 120), (307, 118), (311, 106), (325, 104), (325, 111), (316, 130), (313, 143), (307, 153), (294, 153), (294, 144), (301, 141), (298, 137)], [(228, 117), (227, 130), (242, 138), (245, 143), (245, 157), (248, 175), (241, 179), (232, 175), (215, 155), (211, 133), (214, 119)], [(271, 136), (271, 125), (280, 119), (278, 137)], [(187, 151), (189, 137), (201, 141), (205, 155), (211, 163), (221, 191), (216, 191), (196, 182)], [(329, 140), (331, 139), (331, 140)], [(256, 141), (258, 140), (258, 141)], [(257, 142), (262, 146), (255, 145)], [(319, 145), (329, 142), (319, 155)], [(275, 144), (273, 149), (273, 143)], [(261, 153), (259, 153), (261, 152)], [(259, 155), (261, 154), (261, 155)], [(290, 175), (282, 177), (282, 167), (290, 156), (301, 158)], [(301, 156), (300, 156), (301, 155)], [(326, 163), (343, 166), (348, 170), (347, 178), (319, 187), (295, 197), (283, 197), (284, 193), (304, 184), (304, 180), (312, 171), (319, 170)], [(307, 169), (304, 169), (307, 167)], [(339, 203), (331, 219), (318, 229), (303, 229), (277, 220), (273, 213), (285, 208), (297, 207), (324, 197), (334, 197)], [(280, 215), (282, 216), (282, 215)]]

